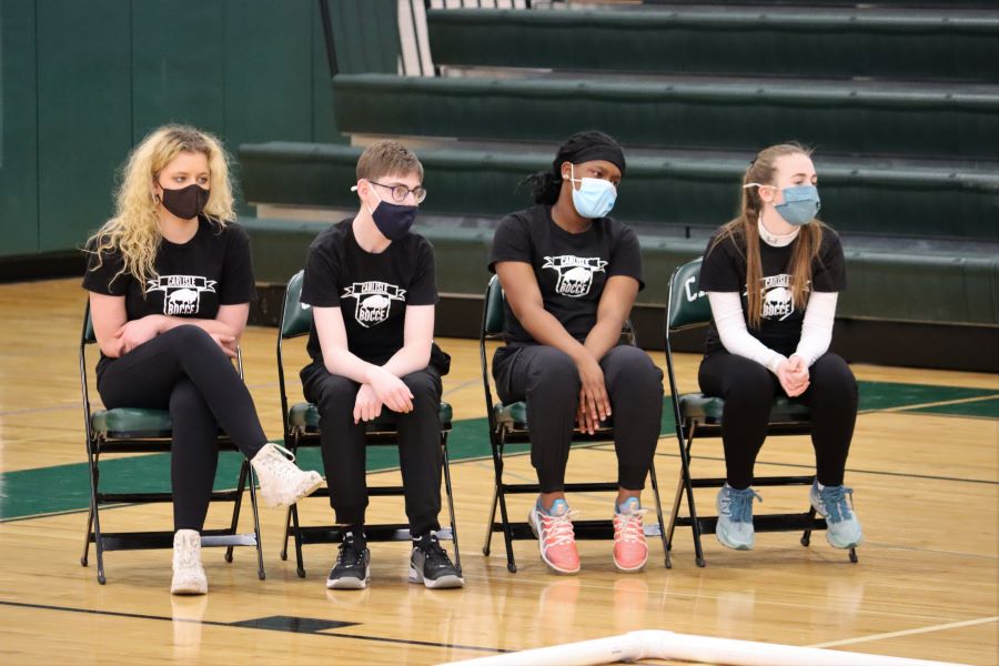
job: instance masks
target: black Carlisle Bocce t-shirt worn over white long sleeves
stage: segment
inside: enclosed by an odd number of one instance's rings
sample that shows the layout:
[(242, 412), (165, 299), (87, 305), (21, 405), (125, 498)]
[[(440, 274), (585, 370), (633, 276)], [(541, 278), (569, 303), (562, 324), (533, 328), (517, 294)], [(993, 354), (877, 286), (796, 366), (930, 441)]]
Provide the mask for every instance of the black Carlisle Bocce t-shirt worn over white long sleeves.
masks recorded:
[[(759, 329), (749, 326), (746, 294), (745, 240), (728, 238), (715, 245), (718, 233), (712, 236), (705, 250), (700, 266), (700, 291), (738, 292), (743, 299), (743, 316), (749, 334), (766, 346), (785, 356), (795, 352), (801, 337), (804, 309), (795, 307), (791, 300), (790, 274), (788, 272), (797, 240), (784, 248), (774, 248), (759, 241), (759, 258), (763, 269), (763, 294)], [(714, 245), (714, 248), (713, 248)], [(817, 292), (840, 292), (846, 289), (846, 265), (839, 235), (829, 228), (823, 229), (823, 242), (818, 255), (811, 262), (810, 289)], [(708, 326), (707, 353), (724, 349), (714, 320)]]

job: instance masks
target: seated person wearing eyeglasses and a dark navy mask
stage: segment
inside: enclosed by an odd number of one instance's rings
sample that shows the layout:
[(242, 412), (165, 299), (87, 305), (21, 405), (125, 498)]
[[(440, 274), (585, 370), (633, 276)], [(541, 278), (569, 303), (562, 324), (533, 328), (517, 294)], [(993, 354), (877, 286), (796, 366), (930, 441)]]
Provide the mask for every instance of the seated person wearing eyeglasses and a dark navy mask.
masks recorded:
[(302, 303), (312, 306), (312, 363), (301, 373), (319, 406), (330, 504), (344, 527), (330, 589), (363, 589), (371, 577), (365, 426), (398, 415), (398, 457), (413, 537), (410, 582), (462, 587), (437, 543), (441, 525), (441, 375), (450, 357), (433, 342), (437, 302), (434, 250), (412, 232), (426, 198), (423, 165), (395, 141), (370, 145), (351, 188), (361, 206), (309, 249)]

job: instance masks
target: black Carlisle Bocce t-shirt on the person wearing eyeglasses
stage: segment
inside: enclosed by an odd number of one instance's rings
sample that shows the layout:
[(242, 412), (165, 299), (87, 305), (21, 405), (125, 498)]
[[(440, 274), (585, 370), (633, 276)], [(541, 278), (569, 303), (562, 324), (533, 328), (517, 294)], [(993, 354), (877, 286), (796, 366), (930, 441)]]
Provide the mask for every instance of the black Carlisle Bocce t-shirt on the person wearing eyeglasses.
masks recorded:
[[(434, 250), (422, 235), (408, 233), (372, 254), (357, 244), (353, 219), (347, 219), (309, 248), (302, 303), (340, 307), (347, 349), (369, 363), (383, 365), (402, 349), (407, 305), (436, 302)], [(315, 324), (309, 334), (309, 355), (322, 363)]]

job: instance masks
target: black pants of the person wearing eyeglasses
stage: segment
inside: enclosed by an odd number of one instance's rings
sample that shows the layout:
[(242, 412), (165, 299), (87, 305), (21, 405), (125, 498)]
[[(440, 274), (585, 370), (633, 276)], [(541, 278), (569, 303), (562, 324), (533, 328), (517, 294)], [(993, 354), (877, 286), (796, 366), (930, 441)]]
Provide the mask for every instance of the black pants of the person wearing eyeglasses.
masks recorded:
[[(441, 527), (441, 375), (431, 366), (407, 374), (402, 381), (413, 394), (413, 411), (396, 415), (398, 464), (410, 533), (423, 536)], [(302, 383), (305, 400), (315, 403), (320, 411), (323, 467), (336, 522), (362, 525), (367, 508), (366, 424), (355, 424), (353, 416), (361, 385), (330, 374), (317, 363), (302, 371)]]

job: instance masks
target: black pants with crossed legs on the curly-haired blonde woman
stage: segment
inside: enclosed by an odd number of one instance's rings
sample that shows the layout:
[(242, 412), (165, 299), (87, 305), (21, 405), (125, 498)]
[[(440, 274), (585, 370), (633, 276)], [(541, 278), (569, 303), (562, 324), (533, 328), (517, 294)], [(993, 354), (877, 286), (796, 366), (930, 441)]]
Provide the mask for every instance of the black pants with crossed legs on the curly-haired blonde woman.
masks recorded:
[(219, 463), (219, 428), (248, 458), (268, 443), (253, 398), (211, 335), (193, 325), (157, 335), (98, 375), (104, 406), (170, 410), (173, 528), (204, 527)]

